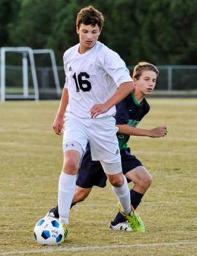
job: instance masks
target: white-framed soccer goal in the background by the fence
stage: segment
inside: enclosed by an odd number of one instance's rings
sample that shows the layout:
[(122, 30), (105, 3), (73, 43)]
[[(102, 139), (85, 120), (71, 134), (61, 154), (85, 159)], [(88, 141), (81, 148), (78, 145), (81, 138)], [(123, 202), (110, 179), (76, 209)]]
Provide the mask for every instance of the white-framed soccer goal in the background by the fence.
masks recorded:
[[(1, 47), (0, 54), (1, 102), (6, 99), (39, 100), (61, 97), (54, 51)], [(10, 60), (12, 65), (8, 65)]]

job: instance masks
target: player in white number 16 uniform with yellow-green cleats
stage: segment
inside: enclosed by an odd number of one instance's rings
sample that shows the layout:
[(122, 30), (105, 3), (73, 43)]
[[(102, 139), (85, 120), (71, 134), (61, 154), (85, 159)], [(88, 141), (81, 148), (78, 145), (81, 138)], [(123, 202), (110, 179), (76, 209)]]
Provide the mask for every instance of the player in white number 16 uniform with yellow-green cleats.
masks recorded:
[[(64, 53), (66, 83), (54, 121), (54, 131), (62, 135), (64, 162), (59, 177), (59, 220), (68, 234), (69, 209), (75, 193), (80, 161), (87, 142), (92, 160), (98, 160), (119, 199), (119, 209), (129, 223), (143, 222), (131, 209), (129, 187), (122, 173), (115, 104), (135, 90), (133, 79), (120, 56), (98, 41), (103, 15), (93, 6), (83, 8), (77, 16), (79, 44)], [(66, 113), (65, 113), (66, 112)], [(65, 118), (64, 118), (65, 114)]]

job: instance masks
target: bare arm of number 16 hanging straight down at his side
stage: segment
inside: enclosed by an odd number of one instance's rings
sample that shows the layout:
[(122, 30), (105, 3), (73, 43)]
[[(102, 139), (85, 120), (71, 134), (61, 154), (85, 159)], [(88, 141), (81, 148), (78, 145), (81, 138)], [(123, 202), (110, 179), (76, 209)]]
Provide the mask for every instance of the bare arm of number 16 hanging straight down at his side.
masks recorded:
[(62, 127), (64, 125), (64, 113), (66, 111), (66, 107), (68, 105), (68, 89), (64, 88), (62, 91), (62, 97), (61, 97), (61, 102), (59, 104), (59, 109), (57, 111), (54, 124), (53, 124), (53, 129), (57, 135), (62, 135)]

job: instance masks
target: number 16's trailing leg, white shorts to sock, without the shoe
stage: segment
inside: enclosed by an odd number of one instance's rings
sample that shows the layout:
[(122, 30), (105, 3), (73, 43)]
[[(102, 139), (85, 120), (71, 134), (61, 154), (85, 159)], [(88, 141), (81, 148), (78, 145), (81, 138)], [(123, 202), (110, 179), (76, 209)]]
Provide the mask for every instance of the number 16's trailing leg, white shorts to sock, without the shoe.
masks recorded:
[(122, 166), (117, 140), (115, 119), (92, 118), (90, 145), (92, 160), (99, 160), (104, 172), (112, 184), (113, 193), (117, 196), (126, 214), (131, 212), (130, 193), (128, 183), (122, 174)]

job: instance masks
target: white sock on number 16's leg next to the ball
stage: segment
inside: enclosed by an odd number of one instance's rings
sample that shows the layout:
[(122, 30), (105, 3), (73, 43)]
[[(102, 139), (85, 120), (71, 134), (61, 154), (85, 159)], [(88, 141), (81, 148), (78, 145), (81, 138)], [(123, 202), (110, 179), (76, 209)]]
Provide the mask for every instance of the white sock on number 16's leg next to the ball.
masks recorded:
[(59, 211), (59, 221), (64, 222), (64, 225), (68, 226), (68, 216), (75, 194), (77, 175), (69, 175), (61, 172), (59, 177), (59, 193), (58, 193), (58, 211)]

